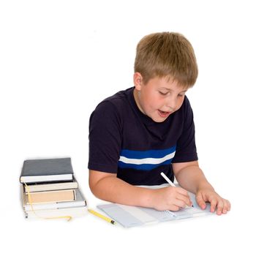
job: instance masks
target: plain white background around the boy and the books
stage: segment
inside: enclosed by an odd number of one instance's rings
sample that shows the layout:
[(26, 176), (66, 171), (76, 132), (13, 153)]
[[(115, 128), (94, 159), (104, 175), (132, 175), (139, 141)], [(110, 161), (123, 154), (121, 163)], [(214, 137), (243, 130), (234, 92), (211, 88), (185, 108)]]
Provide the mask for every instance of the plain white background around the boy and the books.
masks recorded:
[[(253, 1), (1, 1), (0, 251), (4, 255), (255, 255), (255, 7)], [(89, 206), (89, 116), (132, 86), (146, 34), (178, 31), (199, 77), (187, 95), (200, 165), (232, 203), (223, 217), (132, 228), (88, 215), (28, 221), (24, 159), (72, 157)], [(249, 234), (252, 230), (252, 234)]]

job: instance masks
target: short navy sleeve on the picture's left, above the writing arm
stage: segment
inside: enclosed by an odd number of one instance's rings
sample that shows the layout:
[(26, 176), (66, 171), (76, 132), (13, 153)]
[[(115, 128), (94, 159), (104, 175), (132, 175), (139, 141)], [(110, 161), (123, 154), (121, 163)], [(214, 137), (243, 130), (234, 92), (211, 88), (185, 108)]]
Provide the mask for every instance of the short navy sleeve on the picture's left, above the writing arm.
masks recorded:
[(89, 170), (117, 173), (120, 151), (120, 115), (111, 102), (101, 102), (89, 121)]

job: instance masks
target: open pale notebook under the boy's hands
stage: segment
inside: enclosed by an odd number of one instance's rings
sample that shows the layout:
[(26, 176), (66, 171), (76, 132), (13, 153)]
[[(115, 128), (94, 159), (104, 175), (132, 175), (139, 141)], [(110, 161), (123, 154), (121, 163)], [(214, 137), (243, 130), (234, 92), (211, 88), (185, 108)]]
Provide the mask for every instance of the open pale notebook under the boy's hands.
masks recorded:
[(97, 207), (124, 227), (135, 227), (211, 214), (210, 205), (207, 205), (206, 209), (202, 210), (196, 203), (195, 195), (189, 193), (189, 196), (194, 207), (184, 208), (179, 211), (157, 211), (154, 208), (124, 206), (117, 203), (108, 203)]

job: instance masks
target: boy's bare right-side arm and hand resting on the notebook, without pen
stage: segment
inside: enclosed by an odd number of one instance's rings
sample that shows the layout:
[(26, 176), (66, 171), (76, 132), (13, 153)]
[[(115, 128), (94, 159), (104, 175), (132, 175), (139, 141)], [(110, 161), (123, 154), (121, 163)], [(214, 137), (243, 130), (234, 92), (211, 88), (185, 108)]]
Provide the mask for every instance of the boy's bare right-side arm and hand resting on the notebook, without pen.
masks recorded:
[(209, 202), (211, 212), (217, 209), (217, 214), (221, 215), (230, 211), (230, 202), (215, 192), (197, 161), (173, 163), (173, 172), (178, 184), (196, 195), (197, 203), (201, 208), (206, 208), (206, 202)]

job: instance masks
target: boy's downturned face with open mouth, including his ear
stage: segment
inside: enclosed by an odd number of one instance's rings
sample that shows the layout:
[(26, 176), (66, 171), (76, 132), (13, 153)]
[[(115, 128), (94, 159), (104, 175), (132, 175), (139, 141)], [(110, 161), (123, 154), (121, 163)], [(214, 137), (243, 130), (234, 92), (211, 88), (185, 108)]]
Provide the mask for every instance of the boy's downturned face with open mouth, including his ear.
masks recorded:
[(134, 97), (138, 108), (158, 123), (181, 108), (187, 91), (178, 86), (176, 81), (167, 78), (151, 78), (144, 84), (139, 72), (134, 75), (134, 83)]

